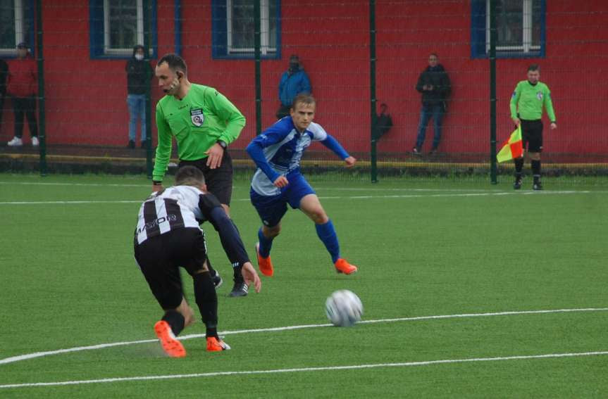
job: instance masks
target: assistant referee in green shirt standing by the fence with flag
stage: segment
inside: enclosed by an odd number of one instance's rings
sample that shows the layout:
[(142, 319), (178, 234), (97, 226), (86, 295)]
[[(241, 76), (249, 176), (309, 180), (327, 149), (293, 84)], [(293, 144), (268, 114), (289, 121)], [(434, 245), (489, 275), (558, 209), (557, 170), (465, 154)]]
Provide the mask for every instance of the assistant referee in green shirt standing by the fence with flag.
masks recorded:
[[(528, 67), (528, 80), (522, 80), (515, 87), (511, 96), (511, 119), (515, 125), (521, 125), (521, 137), (524, 154), (530, 154), (534, 182), (532, 189), (542, 190), (540, 184), (540, 153), (542, 152), (542, 109), (547, 110), (551, 129), (557, 129), (551, 91), (546, 84), (540, 82), (538, 65)], [(521, 189), (523, 156), (515, 159), (515, 183), (513, 188)]]

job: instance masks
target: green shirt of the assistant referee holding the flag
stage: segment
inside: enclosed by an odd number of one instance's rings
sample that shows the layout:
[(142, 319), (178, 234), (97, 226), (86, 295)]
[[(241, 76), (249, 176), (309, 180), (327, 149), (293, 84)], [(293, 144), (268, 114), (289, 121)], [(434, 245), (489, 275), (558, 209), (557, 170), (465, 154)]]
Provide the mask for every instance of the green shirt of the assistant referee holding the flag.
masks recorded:
[(555, 122), (551, 91), (542, 82), (537, 82), (534, 85), (528, 80), (519, 82), (511, 96), (510, 106), (511, 118), (538, 120), (542, 118), (542, 107), (545, 107), (549, 120)]

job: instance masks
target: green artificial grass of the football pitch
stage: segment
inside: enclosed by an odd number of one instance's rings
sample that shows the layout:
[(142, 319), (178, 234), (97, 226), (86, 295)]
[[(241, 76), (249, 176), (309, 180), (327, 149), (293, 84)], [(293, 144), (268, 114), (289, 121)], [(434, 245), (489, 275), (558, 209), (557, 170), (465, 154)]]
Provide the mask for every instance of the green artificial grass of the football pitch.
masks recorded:
[[(528, 185), (513, 191), (510, 178), (492, 186), (315, 177), (342, 255), (359, 272), (336, 274), (313, 224), (290, 210), (273, 246), (275, 276), (263, 277), (261, 293), (228, 298), (230, 265), (207, 226), (211, 260), (225, 279), (219, 329), (228, 331), (232, 350), (206, 353), (204, 338), (192, 338), (183, 359), (145, 342), (1, 364), (40, 351), (153, 340), (161, 310), (132, 256), (149, 180), (0, 175), (0, 386), (128, 379), (0, 388), (0, 396), (601, 398), (605, 353), (510, 358), (608, 351), (608, 190), (597, 182), (545, 179), (546, 190), (533, 192)], [(232, 198), (232, 217), (253, 256), (259, 220), (245, 179), (237, 179)], [(359, 295), (366, 323), (321, 325), (328, 323), (325, 298), (337, 289)], [(380, 321), (585, 308), (604, 310)], [(235, 334), (306, 324), (318, 326)], [(204, 334), (204, 327), (182, 334)], [(496, 357), (507, 359), (482, 360)], [(475, 361), (432, 363), (440, 360)], [(382, 366), (332, 368), (361, 365)], [(182, 377), (129, 379), (175, 375)]]

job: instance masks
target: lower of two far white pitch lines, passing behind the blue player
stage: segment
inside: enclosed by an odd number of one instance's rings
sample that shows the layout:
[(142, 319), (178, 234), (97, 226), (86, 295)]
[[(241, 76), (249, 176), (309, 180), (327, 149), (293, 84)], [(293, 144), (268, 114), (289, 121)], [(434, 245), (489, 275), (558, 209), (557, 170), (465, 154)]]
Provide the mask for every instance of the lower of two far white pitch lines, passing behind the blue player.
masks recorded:
[[(373, 198), (447, 198), (447, 197), (481, 197), (481, 196), (512, 196), (512, 195), (564, 195), (564, 194), (598, 194), (608, 191), (493, 191), (484, 193), (459, 194), (402, 194), (386, 196), (319, 196), (322, 200), (333, 199), (373, 199)], [(83, 200), (83, 201), (0, 201), (0, 205), (78, 205), (94, 203), (142, 203), (143, 200)], [(238, 198), (232, 202), (249, 201), (249, 198)]]

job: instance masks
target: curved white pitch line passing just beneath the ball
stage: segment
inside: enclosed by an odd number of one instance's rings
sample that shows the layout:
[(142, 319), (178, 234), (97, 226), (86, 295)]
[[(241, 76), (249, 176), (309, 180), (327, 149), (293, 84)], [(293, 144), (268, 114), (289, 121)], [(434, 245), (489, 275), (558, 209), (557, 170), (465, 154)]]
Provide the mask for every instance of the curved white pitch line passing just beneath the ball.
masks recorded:
[[(508, 312), (489, 312), (489, 313), (462, 313), (460, 315), (435, 315), (435, 316), (418, 316), (418, 317), (398, 317), (395, 319), (376, 319), (376, 320), (363, 320), (359, 324), (373, 324), (373, 323), (388, 323), (388, 322), (414, 322), (418, 320), (433, 320), (433, 319), (457, 319), (465, 317), (492, 317), (492, 316), (512, 316), (512, 315), (542, 315), (547, 313), (569, 313), (569, 312), (603, 312), (608, 308), (581, 308), (581, 309), (552, 309), (552, 310), (514, 310)], [(259, 333), (259, 332), (271, 332), (271, 331), (289, 331), (297, 329), (313, 329), (319, 327), (332, 327), (332, 324), (304, 324), (299, 326), (287, 326), (287, 327), (271, 327), (266, 329), (247, 329), (247, 330), (236, 330), (236, 331), (222, 331), (221, 335), (233, 335), (233, 334), (247, 334), (247, 333)], [(180, 336), (178, 339), (186, 340), (192, 338), (203, 338), (205, 334), (188, 334)], [(156, 342), (156, 339), (144, 339), (139, 341), (124, 341), (124, 342), (113, 342), (113, 343), (99, 343), (92, 346), (77, 346), (75, 348), (58, 349), (58, 350), (47, 350), (44, 352), (28, 353), (26, 355), (17, 355), (0, 359), (0, 365), (6, 365), (8, 363), (20, 362), (22, 360), (34, 359), (36, 357), (44, 357), (49, 355), (58, 355), (60, 353), (80, 352), (82, 350), (94, 350), (111, 348), (113, 346), (125, 346), (133, 345), (136, 343), (150, 343)]]

